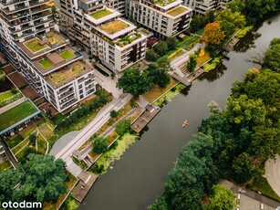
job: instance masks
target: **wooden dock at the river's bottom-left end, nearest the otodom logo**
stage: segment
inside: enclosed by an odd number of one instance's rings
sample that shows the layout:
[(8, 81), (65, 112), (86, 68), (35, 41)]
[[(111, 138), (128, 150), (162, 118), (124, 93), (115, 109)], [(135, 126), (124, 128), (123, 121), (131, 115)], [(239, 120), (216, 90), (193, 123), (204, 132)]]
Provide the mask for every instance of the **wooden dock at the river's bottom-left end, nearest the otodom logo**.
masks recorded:
[(98, 175), (82, 171), (78, 174), (78, 184), (71, 193), (72, 197), (75, 198), (79, 203), (85, 199), (91, 186), (97, 181)]

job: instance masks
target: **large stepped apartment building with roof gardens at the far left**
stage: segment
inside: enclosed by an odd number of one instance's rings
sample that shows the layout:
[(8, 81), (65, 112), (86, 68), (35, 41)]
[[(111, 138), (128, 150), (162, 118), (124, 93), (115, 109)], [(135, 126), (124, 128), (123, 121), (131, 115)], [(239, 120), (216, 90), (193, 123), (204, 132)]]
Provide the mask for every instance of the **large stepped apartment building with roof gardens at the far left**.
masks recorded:
[(1, 0), (0, 43), (6, 58), (58, 111), (95, 92), (93, 68), (54, 29), (47, 0)]

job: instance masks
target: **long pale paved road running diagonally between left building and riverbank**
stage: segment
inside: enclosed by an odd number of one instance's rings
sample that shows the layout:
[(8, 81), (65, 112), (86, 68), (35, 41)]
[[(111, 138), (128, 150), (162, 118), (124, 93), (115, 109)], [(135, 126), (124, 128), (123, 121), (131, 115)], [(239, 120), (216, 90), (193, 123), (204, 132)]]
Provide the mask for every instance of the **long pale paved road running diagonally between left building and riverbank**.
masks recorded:
[(120, 110), (130, 99), (132, 96), (130, 94), (123, 95), (119, 99), (115, 99), (109, 103), (107, 109), (100, 110), (99, 115), (91, 121), (82, 131), (78, 133), (78, 135), (73, 138), (68, 144), (56, 154), (56, 159), (61, 158), (62, 160), (69, 164), (69, 158), (78, 147), (80, 147), (84, 142), (88, 140), (99, 128), (109, 120), (109, 112), (111, 110)]

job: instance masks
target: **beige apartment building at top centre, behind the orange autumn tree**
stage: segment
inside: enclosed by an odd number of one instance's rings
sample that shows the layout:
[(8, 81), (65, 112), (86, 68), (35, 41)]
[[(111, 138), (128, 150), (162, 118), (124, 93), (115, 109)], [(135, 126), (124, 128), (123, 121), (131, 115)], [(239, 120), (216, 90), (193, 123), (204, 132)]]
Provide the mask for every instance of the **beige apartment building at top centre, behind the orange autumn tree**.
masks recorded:
[(156, 37), (173, 37), (189, 28), (192, 20), (192, 9), (181, 4), (181, 0), (128, 0), (127, 16)]

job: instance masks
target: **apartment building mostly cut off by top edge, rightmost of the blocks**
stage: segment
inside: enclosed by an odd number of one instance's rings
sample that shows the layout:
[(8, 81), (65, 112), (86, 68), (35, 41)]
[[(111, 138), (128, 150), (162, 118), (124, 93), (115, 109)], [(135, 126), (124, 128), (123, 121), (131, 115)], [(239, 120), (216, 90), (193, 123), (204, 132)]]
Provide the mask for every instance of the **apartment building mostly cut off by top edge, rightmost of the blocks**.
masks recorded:
[(207, 11), (220, 9), (229, 0), (184, 0), (184, 5), (191, 7), (196, 14), (205, 15)]

